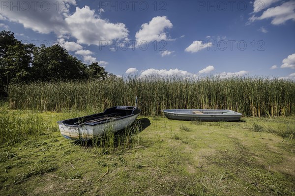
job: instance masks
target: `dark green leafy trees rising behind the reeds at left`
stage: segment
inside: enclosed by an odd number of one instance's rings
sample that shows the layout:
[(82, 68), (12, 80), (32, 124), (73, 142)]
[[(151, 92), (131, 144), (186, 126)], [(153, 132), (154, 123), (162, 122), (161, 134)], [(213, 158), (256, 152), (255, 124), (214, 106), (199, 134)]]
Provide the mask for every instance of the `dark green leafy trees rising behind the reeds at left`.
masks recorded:
[(0, 31), (0, 96), (7, 95), (11, 83), (104, 80), (108, 76), (97, 62), (87, 65), (58, 44), (37, 47), (17, 40), (11, 31)]

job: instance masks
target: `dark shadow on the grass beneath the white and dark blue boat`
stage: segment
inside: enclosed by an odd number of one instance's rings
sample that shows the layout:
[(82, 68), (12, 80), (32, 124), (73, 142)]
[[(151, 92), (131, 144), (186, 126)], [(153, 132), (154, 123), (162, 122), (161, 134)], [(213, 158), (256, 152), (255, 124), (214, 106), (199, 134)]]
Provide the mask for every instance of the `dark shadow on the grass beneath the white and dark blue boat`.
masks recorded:
[(72, 142), (76, 145), (82, 145), (87, 147), (115, 147), (125, 145), (126, 143), (132, 142), (134, 137), (139, 133), (143, 132), (150, 125), (148, 118), (136, 119), (130, 126), (118, 130), (116, 132), (107, 133), (101, 137), (88, 140), (73, 140)]

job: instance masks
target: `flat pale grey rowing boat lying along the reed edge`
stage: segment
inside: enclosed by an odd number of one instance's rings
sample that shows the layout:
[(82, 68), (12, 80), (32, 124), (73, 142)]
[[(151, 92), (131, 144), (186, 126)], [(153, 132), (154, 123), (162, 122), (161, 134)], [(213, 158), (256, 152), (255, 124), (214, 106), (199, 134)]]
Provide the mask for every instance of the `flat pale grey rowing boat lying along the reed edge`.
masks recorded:
[(174, 109), (162, 112), (169, 119), (190, 121), (239, 121), (242, 115), (232, 110)]

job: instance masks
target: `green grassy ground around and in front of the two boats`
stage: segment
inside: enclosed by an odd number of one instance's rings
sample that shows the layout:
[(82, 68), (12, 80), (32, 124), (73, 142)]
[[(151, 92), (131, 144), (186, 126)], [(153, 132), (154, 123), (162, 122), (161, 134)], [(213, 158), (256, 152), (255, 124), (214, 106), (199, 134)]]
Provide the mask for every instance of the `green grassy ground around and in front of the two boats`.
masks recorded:
[(56, 121), (83, 114), (0, 107), (0, 195), (295, 195), (294, 116), (140, 116), (129, 135), (112, 141), (63, 138)]

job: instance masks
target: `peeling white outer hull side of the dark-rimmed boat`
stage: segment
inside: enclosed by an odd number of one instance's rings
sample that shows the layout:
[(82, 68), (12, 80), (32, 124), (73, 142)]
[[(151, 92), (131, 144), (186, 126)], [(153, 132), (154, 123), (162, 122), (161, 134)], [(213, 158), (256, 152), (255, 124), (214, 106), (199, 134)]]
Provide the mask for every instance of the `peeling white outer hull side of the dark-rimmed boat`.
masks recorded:
[(132, 115), (130, 117), (113, 120), (107, 123), (98, 125), (83, 125), (82, 127), (68, 126), (63, 123), (59, 124), (59, 130), (64, 138), (78, 140), (78, 139), (93, 139), (99, 137), (107, 130), (118, 131), (124, 129), (128, 125), (132, 124), (139, 114)]

